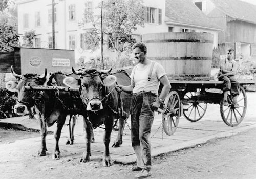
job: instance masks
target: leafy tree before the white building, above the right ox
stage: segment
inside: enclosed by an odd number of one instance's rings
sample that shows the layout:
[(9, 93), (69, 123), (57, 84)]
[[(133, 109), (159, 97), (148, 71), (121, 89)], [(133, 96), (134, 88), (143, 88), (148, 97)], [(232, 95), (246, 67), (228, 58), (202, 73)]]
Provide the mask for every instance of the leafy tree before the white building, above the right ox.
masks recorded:
[[(103, 35), (108, 37), (104, 40), (111, 48), (117, 52), (122, 51), (125, 42), (134, 43), (131, 38), (133, 30), (137, 26), (144, 26), (144, 9), (142, 0), (104, 0), (102, 13)], [(101, 3), (98, 7), (101, 9)], [(99, 47), (101, 41), (101, 15), (94, 15), (93, 12), (84, 14), (83, 22), (79, 25), (92, 24), (93, 28), (88, 29), (84, 36), (85, 42), (92, 50)]]

